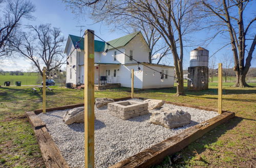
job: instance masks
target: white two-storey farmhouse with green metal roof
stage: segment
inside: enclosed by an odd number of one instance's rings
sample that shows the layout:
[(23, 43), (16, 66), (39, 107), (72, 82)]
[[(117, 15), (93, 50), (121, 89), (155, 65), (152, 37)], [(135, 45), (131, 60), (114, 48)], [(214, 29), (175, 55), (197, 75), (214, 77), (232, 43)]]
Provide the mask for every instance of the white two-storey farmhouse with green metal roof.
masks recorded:
[[(69, 35), (65, 53), (70, 53), (75, 48), (76, 42), (80, 37)], [(141, 62), (139, 65), (120, 51), (106, 45), (102, 41), (94, 42), (94, 62), (95, 62), (95, 85), (105, 85), (105, 83), (120, 83), (121, 87), (131, 87), (131, 69), (134, 69), (134, 88), (169, 88), (174, 86), (174, 67), (148, 63), (148, 54), (151, 52), (141, 32), (129, 34), (108, 42), (123, 53), (130, 55), (131, 58)], [(84, 83), (84, 39), (80, 41), (81, 52), (76, 49), (67, 60), (67, 79), (66, 82), (74, 85)], [(106, 55), (103, 51), (109, 48)], [(146, 67), (151, 67), (152, 69)], [(140, 70), (138, 69), (140, 67)], [(164, 75), (161, 80), (159, 72)], [(105, 81), (106, 79), (106, 81)], [(108, 85), (108, 84), (107, 84)]]

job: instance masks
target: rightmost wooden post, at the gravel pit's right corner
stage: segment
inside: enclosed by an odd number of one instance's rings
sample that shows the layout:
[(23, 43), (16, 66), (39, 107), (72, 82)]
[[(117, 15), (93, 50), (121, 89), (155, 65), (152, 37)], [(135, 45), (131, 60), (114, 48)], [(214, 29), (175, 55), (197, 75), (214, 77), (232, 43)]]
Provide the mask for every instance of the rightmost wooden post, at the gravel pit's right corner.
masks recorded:
[(222, 63), (218, 67), (218, 113), (222, 114)]

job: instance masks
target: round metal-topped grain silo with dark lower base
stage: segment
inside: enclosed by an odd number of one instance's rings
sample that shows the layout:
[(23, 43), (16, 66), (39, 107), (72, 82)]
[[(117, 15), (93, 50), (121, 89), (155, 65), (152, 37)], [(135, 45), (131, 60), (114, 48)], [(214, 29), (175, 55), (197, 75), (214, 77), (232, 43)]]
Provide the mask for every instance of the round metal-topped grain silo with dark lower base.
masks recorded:
[(208, 59), (209, 51), (198, 47), (190, 51), (190, 62), (188, 67), (187, 88), (191, 90), (208, 89)]

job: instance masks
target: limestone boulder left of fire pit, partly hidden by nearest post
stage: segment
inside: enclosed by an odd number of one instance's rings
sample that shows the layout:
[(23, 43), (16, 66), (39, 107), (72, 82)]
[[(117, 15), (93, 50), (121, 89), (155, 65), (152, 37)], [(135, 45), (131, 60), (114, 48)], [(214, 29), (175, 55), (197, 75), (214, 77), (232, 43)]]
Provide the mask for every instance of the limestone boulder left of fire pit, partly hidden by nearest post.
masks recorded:
[(68, 125), (73, 123), (84, 123), (84, 107), (76, 107), (68, 110), (62, 121)]

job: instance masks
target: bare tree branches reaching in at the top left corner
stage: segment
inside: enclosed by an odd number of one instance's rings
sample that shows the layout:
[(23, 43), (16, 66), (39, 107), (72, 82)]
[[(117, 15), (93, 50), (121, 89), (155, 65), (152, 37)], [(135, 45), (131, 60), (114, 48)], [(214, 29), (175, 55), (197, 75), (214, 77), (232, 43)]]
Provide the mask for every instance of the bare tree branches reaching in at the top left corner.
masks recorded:
[(35, 11), (35, 6), (28, 0), (0, 0), (1, 4), (4, 7), (0, 8), (0, 57), (11, 53), (10, 43), (15, 40), (22, 19), (31, 19), (31, 13)]

